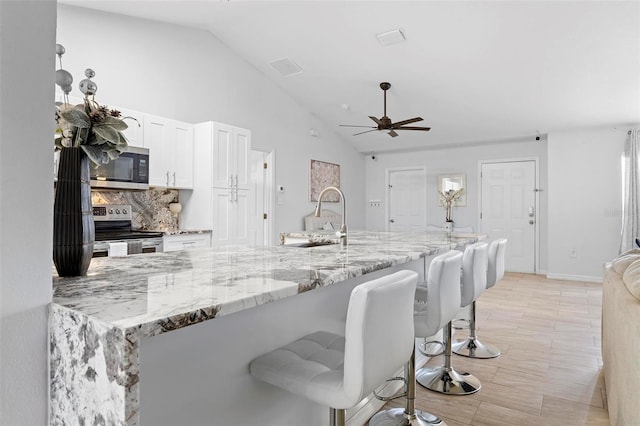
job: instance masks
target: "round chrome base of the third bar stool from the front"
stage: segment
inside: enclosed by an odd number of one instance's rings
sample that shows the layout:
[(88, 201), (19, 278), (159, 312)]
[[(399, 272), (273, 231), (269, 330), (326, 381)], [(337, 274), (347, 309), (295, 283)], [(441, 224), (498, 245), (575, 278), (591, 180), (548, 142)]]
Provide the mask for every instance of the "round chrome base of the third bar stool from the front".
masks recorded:
[(429, 390), (447, 395), (469, 395), (480, 390), (477, 377), (445, 366), (421, 368), (416, 372), (416, 381)]

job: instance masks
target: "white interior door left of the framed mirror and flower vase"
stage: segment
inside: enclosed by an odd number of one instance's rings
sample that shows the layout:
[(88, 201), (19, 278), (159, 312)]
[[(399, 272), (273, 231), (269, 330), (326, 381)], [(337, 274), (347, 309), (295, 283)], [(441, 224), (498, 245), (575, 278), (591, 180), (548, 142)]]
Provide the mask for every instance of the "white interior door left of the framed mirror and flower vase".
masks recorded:
[(387, 230), (426, 230), (426, 177), (424, 168), (387, 170)]

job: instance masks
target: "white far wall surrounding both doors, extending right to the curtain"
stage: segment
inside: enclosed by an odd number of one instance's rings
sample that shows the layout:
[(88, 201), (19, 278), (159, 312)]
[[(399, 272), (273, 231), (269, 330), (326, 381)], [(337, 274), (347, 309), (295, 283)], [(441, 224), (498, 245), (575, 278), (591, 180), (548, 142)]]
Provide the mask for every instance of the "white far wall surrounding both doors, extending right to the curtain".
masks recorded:
[[(620, 244), (622, 195), (620, 158), (626, 129), (554, 132), (547, 142), (513, 142), (414, 153), (376, 154), (366, 159), (366, 200), (385, 198), (385, 169), (427, 167), (428, 222), (444, 220), (437, 204), (439, 174), (466, 173), (467, 206), (454, 209), (459, 226), (478, 226), (478, 162), (538, 157), (540, 249), (538, 273), (550, 278), (601, 281), (602, 264)], [(368, 229), (384, 229), (384, 203), (367, 207)], [(575, 250), (576, 257), (569, 255)]]

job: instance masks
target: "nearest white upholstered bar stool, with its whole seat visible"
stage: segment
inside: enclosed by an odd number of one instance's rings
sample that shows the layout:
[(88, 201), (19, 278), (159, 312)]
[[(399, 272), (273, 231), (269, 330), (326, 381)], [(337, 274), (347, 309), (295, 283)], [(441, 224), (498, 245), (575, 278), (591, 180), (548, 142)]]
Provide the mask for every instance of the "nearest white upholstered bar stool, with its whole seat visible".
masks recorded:
[(417, 282), (417, 273), (400, 271), (358, 285), (349, 299), (344, 336), (308, 334), (251, 361), (251, 375), (330, 407), (330, 424), (344, 426), (345, 410), (411, 357)]

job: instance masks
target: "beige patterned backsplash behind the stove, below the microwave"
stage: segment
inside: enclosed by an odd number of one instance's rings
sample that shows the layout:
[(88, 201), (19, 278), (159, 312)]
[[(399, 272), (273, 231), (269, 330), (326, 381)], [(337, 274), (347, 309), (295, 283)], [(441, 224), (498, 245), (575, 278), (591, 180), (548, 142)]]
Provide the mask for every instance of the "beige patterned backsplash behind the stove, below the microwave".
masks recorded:
[(91, 202), (96, 204), (131, 204), (131, 227), (153, 231), (176, 231), (178, 217), (169, 211), (170, 203), (179, 202), (176, 189), (148, 191), (92, 191)]

